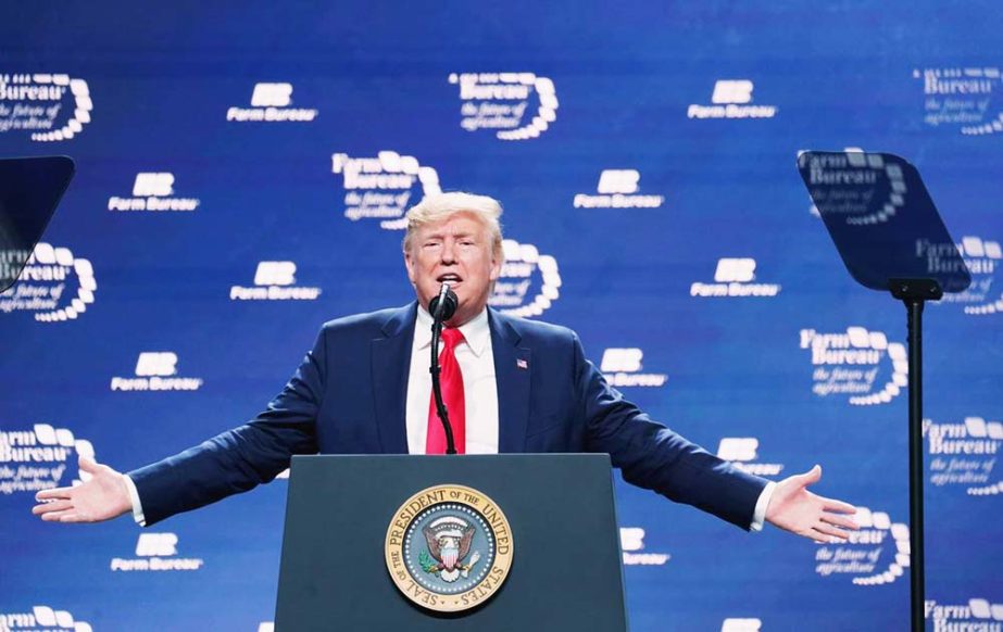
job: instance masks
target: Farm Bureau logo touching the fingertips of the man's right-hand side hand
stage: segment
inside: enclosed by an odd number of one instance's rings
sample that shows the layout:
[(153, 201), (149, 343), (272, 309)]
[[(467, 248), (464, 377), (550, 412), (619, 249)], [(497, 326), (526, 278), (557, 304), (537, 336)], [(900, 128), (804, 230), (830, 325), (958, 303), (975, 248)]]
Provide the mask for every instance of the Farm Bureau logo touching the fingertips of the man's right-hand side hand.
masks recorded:
[(908, 526), (894, 522), (885, 511), (857, 507), (853, 516), (860, 531), (850, 531), (847, 542), (825, 544), (815, 551), (815, 572), (853, 578), (861, 586), (895, 581), (910, 565)]

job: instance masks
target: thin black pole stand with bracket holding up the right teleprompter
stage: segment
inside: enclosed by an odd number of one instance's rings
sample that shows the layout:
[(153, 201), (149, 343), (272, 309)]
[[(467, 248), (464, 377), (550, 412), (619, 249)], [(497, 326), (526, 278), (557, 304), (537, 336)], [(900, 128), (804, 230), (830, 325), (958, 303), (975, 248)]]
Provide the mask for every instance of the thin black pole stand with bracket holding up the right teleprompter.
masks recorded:
[(923, 307), (939, 301), (943, 289), (935, 279), (889, 279), (892, 296), (905, 303), (908, 326), (908, 543), (913, 632), (926, 629), (923, 548)]

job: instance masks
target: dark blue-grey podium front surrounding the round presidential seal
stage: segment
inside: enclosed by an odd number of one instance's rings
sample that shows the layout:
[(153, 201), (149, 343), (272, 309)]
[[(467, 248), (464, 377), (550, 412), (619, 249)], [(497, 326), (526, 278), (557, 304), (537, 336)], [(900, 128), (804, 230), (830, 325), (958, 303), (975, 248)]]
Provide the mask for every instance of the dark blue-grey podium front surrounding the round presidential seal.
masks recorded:
[[(412, 604), (387, 570), (401, 504), (437, 484), (473, 488), (507, 517), (512, 566), (463, 612)], [(607, 455), (297, 456), (276, 629), (626, 630)]]

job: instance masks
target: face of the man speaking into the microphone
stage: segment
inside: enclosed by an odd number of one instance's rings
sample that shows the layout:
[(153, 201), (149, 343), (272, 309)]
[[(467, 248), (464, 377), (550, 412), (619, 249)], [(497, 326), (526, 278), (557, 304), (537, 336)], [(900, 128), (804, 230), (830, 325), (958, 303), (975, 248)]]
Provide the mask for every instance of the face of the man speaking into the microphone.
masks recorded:
[(460, 301), (448, 321), (451, 327), (463, 325), (485, 308), (491, 283), (501, 274), (490, 231), (465, 211), (418, 228), (404, 252), (404, 263), (418, 302), (426, 309), (439, 294), (442, 281), (450, 282)]

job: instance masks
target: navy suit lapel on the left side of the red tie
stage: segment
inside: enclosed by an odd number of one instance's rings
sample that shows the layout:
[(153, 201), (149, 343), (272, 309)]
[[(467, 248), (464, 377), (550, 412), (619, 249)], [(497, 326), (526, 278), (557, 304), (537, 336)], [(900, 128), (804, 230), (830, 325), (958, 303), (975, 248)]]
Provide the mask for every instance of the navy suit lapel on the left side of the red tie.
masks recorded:
[(376, 427), (384, 454), (408, 454), (404, 406), (417, 303), (393, 312), (383, 327), (385, 338), (369, 345)]

